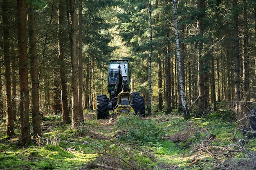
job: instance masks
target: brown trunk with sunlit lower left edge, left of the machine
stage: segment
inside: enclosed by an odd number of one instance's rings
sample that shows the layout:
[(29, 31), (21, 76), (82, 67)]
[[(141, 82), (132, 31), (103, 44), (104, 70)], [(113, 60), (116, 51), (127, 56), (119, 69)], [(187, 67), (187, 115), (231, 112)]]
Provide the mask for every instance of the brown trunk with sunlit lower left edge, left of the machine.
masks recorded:
[(76, 5), (70, 0), (70, 44), (71, 44), (71, 91), (72, 91), (72, 128), (79, 126), (79, 103), (77, 83), (77, 56), (76, 56)]

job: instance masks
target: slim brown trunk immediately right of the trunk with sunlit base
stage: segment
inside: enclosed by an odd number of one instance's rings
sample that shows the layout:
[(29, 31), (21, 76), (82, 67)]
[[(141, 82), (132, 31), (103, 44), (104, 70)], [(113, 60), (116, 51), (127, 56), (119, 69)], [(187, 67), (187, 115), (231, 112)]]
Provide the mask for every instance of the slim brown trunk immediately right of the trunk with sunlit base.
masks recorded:
[(82, 0), (79, 0), (79, 29), (78, 29), (78, 103), (79, 120), (83, 121), (83, 61), (82, 61)]

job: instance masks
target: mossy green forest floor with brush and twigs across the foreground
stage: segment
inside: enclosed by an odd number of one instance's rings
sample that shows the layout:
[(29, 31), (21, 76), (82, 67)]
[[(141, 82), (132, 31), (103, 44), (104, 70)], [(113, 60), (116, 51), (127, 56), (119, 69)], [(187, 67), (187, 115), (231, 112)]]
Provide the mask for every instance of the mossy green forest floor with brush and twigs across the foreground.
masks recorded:
[(189, 121), (160, 112), (98, 120), (88, 110), (84, 124), (72, 130), (60, 115), (45, 115), (43, 137), (20, 147), (18, 130), (7, 137), (2, 119), (0, 170), (256, 169), (256, 139), (232, 122), (227, 110)]

